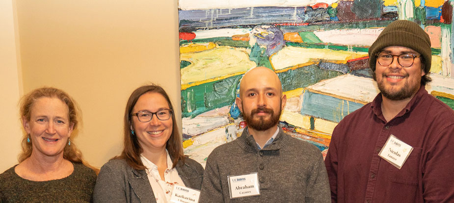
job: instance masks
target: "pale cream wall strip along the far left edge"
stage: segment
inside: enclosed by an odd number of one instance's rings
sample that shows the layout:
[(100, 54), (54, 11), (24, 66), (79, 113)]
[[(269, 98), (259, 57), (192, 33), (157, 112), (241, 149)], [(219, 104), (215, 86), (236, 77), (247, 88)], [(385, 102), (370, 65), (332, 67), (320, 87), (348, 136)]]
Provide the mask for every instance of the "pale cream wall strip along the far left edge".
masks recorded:
[(0, 173), (17, 163), (20, 152), (20, 69), (11, 0), (0, 0)]

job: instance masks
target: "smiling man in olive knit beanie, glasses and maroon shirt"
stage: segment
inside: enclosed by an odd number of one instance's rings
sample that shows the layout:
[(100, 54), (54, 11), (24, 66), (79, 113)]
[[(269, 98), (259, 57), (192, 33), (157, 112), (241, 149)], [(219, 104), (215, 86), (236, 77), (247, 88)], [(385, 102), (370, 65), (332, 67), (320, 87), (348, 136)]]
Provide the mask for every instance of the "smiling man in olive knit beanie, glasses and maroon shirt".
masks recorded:
[(391, 23), (369, 65), (380, 93), (339, 123), (325, 159), (332, 202), (453, 203), (454, 111), (425, 89), (427, 33)]

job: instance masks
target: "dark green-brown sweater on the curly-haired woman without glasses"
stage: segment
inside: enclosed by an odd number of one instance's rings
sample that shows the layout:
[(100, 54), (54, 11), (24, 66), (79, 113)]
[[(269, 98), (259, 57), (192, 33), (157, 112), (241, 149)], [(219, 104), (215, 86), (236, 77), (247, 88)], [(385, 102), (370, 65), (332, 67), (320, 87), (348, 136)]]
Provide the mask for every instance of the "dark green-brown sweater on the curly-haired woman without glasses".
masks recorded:
[(95, 172), (80, 163), (66, 178), (31, 181), (19, 177), (11, 167), (0, 174), (0, 203), (85, 203), (91, 202)]

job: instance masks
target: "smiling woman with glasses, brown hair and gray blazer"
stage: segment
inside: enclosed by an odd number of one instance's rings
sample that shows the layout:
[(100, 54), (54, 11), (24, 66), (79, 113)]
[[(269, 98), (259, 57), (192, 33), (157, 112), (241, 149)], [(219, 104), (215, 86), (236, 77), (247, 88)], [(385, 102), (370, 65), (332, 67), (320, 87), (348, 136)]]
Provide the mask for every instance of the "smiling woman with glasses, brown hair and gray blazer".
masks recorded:
[(180, 191), (176, 185), (200, 190), (202, 179), (202, 166), (183, 153), (167, 93), (158, 85), (134, 90), (126, 104), (124, 150), (101, 168), (94, 202), (168, 203)]

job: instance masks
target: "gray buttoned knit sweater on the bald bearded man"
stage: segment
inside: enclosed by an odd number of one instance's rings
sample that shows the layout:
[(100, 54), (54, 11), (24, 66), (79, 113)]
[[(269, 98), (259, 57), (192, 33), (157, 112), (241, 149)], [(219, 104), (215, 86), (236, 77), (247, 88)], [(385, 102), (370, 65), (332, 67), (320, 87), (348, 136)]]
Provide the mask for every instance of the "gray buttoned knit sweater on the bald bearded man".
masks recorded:
[[(227, 176), (258, 173), (260, 196), (230, 199)], [(199, 203), (330, 203), (320, 150), (285, 134), (258, 150), (247, 128), (208, 156)]]

